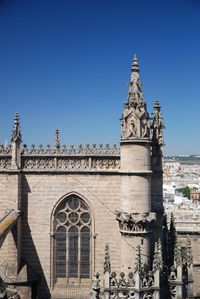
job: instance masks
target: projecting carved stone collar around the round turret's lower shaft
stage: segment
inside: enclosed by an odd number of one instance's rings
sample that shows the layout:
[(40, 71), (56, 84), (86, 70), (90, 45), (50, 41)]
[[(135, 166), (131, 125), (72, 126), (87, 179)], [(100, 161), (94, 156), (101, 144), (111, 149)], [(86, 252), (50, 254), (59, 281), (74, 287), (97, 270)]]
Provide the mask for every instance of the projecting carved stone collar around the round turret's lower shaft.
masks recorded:
[(155, 213), (126, 213), (116, 212), (121, 234), (144, 235), (151, 232), (151, 223), (156, 220)]

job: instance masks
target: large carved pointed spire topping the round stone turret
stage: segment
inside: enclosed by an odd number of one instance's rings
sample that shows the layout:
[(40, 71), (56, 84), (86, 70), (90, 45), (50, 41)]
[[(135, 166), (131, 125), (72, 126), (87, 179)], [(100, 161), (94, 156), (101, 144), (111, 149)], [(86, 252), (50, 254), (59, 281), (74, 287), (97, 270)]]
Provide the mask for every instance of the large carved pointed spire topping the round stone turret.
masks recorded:
[(139, 64), (135, 55), (131, 68), (128, 99), (121, 118), (122, 140), (150, 138), (149, 114), (143, 98), (139, 72)]

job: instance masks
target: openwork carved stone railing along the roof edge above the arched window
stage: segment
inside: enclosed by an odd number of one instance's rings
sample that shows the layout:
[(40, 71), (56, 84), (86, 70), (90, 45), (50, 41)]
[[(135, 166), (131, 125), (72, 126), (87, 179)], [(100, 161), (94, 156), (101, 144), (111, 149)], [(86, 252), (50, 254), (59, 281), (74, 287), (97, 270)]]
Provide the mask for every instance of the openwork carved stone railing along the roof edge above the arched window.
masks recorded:
[[(0, 147), (0, 170), (11, 169), (11, 146)], [(120, 168), (120, 150), (116, 145), (103, 146), (96, 144), (86, 146), (65, 145), (51, 148), (51, 146), (28, 148), (24, 145), (20, 149), (21, 169), (24, 171), (97, 171), (117, 172)]]

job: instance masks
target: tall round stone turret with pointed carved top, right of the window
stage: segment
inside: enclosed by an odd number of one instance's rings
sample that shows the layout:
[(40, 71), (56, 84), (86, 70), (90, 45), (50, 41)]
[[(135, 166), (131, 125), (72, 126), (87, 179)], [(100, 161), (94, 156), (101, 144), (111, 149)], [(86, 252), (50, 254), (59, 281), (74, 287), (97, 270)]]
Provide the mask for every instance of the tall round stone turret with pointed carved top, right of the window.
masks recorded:
[[(141, 246), (148, 263), (149, 234), (155, 215), (151, 213), (150, 121), (140, 81), (136, 55), (131, 68), (128, 99), (121, 118), (121, 210), (117, 212), (122, 239), (122, 267), (134, 268), (135, 249)], [(130, 265), (130, 256), (133, 264)]]

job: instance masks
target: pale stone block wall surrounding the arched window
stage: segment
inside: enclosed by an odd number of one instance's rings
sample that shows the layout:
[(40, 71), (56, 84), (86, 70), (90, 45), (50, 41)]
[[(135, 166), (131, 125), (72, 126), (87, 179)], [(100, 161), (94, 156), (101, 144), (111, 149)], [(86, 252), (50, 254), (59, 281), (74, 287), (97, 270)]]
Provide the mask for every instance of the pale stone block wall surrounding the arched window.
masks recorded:
[(52, 212), (68, 194), (83, 198), (92, 213), (92, 273), (103, 271), (104, 247), (112, 252), (113, 271), (119, 272), (120, 233), (115, 220), (119, 208), (120, 177), (117, 175), (23, 175), (22, 256), (42, 276), (40, 287), (53, 287)]

